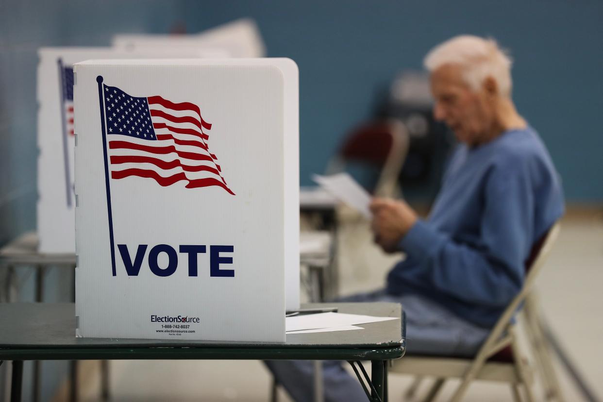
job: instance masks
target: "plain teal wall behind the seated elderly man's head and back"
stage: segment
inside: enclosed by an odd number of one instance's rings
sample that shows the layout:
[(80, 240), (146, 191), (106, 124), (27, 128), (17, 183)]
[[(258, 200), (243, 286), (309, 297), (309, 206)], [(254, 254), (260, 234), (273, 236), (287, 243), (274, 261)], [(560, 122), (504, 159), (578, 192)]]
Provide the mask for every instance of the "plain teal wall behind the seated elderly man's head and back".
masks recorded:
[[(301, 183), (324, 170), (376, 90), (456, 34), (511, 50), (514, 99), (543, 137), (569, 201), (603, 201), (603, 2), (229, 1), (184, 3), (189, 31), (257, 20), (269, 56), (300, 67)], [(185, 12), (186, 11), (186, 12)]]

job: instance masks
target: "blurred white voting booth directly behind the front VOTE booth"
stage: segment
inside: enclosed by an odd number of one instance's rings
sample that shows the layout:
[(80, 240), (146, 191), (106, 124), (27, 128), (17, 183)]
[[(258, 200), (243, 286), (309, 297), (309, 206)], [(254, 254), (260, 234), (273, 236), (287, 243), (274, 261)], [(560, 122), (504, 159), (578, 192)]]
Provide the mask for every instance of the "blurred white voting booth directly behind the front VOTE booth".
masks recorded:
[(126, 51), (115, 48), (42, 48), (37, 69), (40, 253), (75, 252), (73, 64), (89, 58), (197, 58), (202, 48)]

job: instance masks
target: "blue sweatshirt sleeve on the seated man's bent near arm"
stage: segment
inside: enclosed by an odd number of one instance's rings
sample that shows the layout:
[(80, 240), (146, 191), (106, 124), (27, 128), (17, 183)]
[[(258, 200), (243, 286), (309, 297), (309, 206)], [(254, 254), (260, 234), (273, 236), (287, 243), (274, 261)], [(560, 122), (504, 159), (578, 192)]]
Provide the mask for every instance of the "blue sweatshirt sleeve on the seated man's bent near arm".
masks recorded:
[(506, 306), (519, 292), (533, 238), (534, 197), (527, 172), (510, 165), (495, 169), (485, 183), (478, 244), (459, 242), (423, 221), (400, 240), (438, 291), (493, 307)]

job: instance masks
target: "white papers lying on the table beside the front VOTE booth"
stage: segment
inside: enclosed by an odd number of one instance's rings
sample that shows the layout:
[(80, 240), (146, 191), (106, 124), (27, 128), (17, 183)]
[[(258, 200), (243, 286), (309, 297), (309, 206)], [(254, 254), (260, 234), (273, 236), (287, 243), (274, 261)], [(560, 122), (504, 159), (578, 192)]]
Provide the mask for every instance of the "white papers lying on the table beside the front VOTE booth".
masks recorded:
[(369, 322), (388, 321), (395, 317), (374, 317), (370, 315), (345, 313), (318, 313), (297, 315), (285, 318), (285, 331), (314, 330), (318, 328), (343, 327), (345, 325), (368, 324)]

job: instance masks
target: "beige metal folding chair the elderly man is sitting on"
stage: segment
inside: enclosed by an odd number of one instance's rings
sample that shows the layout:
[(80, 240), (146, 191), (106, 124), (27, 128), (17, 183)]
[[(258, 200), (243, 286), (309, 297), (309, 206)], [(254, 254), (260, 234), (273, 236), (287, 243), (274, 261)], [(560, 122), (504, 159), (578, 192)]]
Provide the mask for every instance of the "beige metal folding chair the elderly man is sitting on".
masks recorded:
[(535, 278), (551, 251), (558, 232), (559, 224), (553, 225), (532, 247), (531, 254), (526, 260), (526, 277), (521, 291), (502, 313), (473, 359), (448, 356), (405, 356), (403, 359), (393, 362), (390, 372), (418, 376), (406, 392), (407, 397), (414, 395), (421, 377), (432, 376), (436, 378), (436, 381), (429, 389), (424, 401), (434, 400), (444, 382), (449, 378), (461, 378), (461, 384), (450, 399), (453, 402), (458, 402), (463, 398), (473, 380), (507, 382), (511, 385), (514, 401), (522, 401), (520, 388), (523, 388), (526, 400), (529, 402), (534, 400), (531, 390), (532, 370), (528, 366), (527, 360), (520, 354), (513, 317), (528, 298)]

